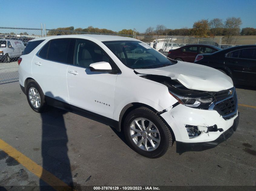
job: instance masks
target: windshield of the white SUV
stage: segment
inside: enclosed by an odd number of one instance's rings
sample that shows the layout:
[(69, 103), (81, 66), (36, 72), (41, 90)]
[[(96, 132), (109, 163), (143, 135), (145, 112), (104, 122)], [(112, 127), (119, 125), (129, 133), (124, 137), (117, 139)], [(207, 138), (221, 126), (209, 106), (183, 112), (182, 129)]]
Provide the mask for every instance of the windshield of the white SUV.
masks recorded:
[(140, 41), (105, 41), (104, 43), (127, 67), (160, 68), (173, 65), (176, 61), (168, 59), (151, 46)]

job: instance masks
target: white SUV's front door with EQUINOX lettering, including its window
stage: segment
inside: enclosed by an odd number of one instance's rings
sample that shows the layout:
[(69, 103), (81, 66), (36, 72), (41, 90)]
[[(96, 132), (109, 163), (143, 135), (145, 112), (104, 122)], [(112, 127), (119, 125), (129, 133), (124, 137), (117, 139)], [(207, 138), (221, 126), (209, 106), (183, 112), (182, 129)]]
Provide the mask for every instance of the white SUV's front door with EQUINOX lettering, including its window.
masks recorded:
[[(67, 70), (69, 103), (91, 119), (113, 119), (117, 74), (91, 72), (89, 65), (113, 62), (100, 46), (89, 40), (77, 39), (74, 65)], [(106, 120), (105, 118), (104, 120)]]

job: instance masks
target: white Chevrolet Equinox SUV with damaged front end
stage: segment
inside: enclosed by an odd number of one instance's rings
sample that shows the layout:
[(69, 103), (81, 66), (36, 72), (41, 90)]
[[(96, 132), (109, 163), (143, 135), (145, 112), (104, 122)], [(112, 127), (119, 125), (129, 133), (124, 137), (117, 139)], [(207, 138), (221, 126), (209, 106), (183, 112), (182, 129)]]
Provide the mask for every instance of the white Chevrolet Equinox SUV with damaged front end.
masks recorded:
[(34, 39), (18, 64), (21, 88), (35, 112), (51, 105), (112, 126), (149, 158), (165, 154), (174, 141), (179, 153), (212, 148), (238, 125), (230, 77), (168, 59), (132, 38)]

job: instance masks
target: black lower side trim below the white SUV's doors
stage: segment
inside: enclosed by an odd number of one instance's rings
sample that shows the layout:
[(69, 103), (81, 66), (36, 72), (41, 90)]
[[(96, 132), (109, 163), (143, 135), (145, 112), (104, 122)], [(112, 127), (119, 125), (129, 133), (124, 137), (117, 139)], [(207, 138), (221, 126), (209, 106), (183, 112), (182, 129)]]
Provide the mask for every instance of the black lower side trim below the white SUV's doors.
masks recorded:
[(118, 130), (118, 121), (116, 121), (114, 119), (110, 119), (108, 117), (99, 115), (97, 113), (82, 109), (80, 107), (70, 105), (69, 103), (65, 103), (63, 101), (56, 100), (52, 97), (45, 96), (45, 99), (46, 99), (46, 103), (50, 106), (66, 110), (66, 111), (81, 115), (83, 117), (87, 117), (89, 119), (98, 121), (98, 122), (103, 123), (105, 125), (114, 127), (115, 129)]

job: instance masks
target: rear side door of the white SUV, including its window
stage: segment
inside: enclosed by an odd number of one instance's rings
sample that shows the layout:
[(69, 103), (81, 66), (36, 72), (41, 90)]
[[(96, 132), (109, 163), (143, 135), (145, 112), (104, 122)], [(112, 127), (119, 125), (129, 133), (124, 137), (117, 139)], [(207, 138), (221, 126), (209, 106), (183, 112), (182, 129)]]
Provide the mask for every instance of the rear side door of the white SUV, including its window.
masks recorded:
[(32, 60), (32, 75), (44, 94), (68, 103), (67, 69), (73, 63), (68, 49), (70, 39), (48, 41)]

